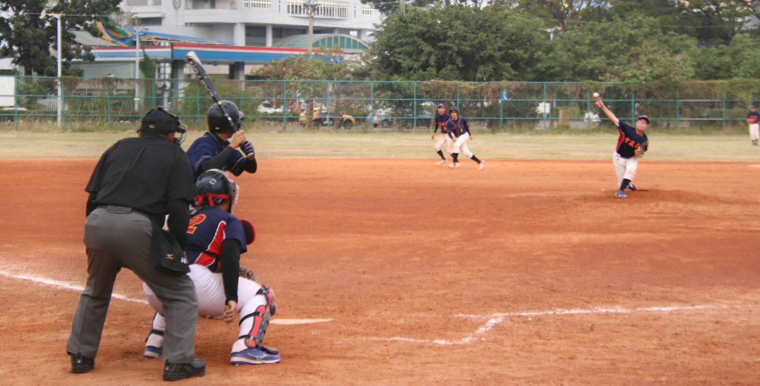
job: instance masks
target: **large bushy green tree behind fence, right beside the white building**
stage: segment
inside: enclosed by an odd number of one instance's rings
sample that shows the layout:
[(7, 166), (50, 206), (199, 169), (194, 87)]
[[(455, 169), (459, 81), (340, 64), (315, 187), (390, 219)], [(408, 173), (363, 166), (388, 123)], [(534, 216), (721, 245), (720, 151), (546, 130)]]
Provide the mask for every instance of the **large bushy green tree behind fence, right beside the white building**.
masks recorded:
[(505, 5), (412, 8), (389, 15), (369, 48), (378, 80), (534, 81), (549, 40)]

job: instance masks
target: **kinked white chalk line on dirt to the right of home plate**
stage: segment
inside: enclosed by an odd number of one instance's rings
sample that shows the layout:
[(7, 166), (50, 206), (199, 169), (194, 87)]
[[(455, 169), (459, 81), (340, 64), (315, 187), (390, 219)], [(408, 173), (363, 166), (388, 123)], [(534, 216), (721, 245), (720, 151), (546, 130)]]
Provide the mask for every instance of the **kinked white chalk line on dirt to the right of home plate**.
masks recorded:
[(752, 308), (755, 305), (685, 305), (685, 306), (667, 306), (667, 307), (644, 307), (644, 308), (588, 308), (588, 309), (554, 309), (549, 311), (538, 312), (506, 312), (492, 315), (456, 315), (458, 318), (467, 319), (488, 319), (486, 324), (478, 327), (472, 334), (461, 340), (441, 340), (441, 339), (412, 339), (406, 337), (373, 337), (366, 340), (384, 341), (384, 342), (406, 342), (406, 343), (433, 343), (441, 345), (466, 344), (476, 340), (485, 340), (483, 335), (491, 331), (496, 324), (501, 324), (506, 318), (518, 316), (550, 316), (550, 315), (596, 315), (596, 314), (633, 314), (637, 312), (676, 312), (692, 311), (703, 309), (728, 309), (728, 308)]

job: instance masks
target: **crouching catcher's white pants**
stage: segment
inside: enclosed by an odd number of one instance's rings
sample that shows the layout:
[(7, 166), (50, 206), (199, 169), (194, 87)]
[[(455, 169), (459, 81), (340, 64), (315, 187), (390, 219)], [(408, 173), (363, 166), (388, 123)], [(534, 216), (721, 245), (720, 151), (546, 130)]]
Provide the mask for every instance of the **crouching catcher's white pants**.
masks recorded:
[[(198, 316), (214, 317), (221, 316), (224, 313), (224, 302), (226, 296), (224, 296), (224, 283), (222, 282), (222, 274), (214, 273), (208, 270), (207, 267), (198, 264), (190, 264), (190, 273), (188, 277), (195, 284), (195, 294), (198, 297)], [(256, 311), (259, 305), (267, 304), (265, 295), (256, 295), (258, 289), (261, 289), (261, 285), (255, 281), (238, 278), (238, 312), (239, 317), (245, 317)], [(150, 307), (153, 307), (159, 315), (156, 315), (153, 321), (153, 329), (157, 331), (163, 331), (166, 328), (165, 322), (163, 322), (163, 306), (161, 302), (156, 298), (153, 290), (150, 289), (147, 284), (143, 283), (143, 292), (145, 293), (145, 299)], [(240, 324), (240, 333), (238, 337), (251, 333), (254, 318), (246, 318), (245, 321)], [(162, 325), (163, 324), (163, 325)], [(256, 331), (253, 333), (255, 334)]]

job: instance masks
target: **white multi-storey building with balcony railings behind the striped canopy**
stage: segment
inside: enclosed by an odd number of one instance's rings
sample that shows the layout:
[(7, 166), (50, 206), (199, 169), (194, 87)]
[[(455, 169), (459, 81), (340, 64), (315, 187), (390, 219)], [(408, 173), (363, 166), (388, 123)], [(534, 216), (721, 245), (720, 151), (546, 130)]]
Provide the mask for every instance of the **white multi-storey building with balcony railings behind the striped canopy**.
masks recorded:
[[(381, 15), (359, 0), (318, 0), (314, 33), (341, 33), (371, 42)], [(121, 8), (159, 33), (198, 36), (236, 46), (271, 47), (308, 34), (304, 0), (124, 0)]]

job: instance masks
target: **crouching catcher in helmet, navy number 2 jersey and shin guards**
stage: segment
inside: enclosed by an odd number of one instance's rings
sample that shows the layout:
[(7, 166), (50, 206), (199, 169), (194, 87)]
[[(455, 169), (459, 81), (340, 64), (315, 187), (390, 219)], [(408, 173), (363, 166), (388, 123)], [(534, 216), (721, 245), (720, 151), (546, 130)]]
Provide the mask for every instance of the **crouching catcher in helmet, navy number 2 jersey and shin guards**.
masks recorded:
[[(226, 172), (211, 169), (198, 176), (197, 211), (190, 219), (185, 250), (191, 263), (188, 277), (195, 284), (198, 315), (227, 323), (239, 316), (240, 331), (230, 359), (233, 365), (277, 363), (277, 350), (261, 346), (277, 307), (274, 293), (256, 283), (251, 271), (240, 267), (240, 254), (254, 241), (255, 230), (248, 221), (233, 216), (237, 196), (237, 186)], [(143, 291), (156, 310), (143, 355), (153, 359), (162, 355), (166, 320), (161, 302), (147, 284), (143, 284)]]

